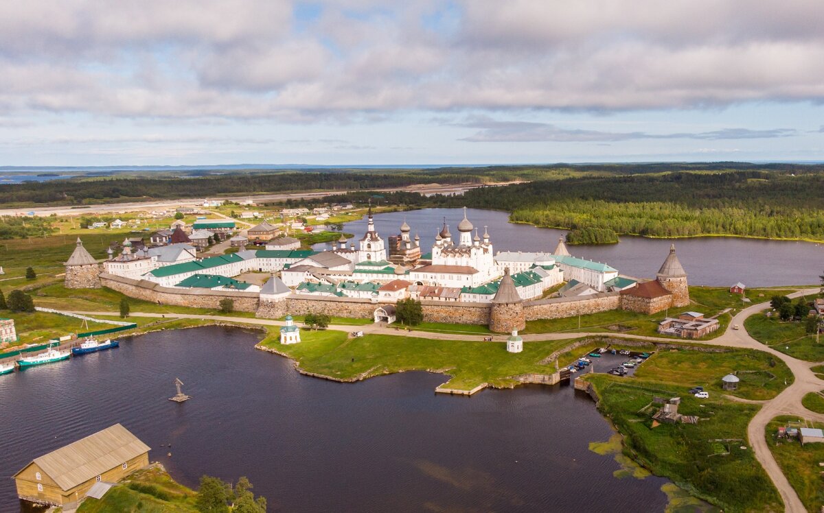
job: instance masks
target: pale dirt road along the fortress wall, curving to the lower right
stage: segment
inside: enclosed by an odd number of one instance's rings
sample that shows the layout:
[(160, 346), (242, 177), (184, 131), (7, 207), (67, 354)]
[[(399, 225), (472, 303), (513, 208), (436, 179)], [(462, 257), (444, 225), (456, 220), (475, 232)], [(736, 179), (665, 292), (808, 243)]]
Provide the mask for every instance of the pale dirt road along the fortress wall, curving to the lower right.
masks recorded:
[[(789, 294), (789, 297), (796, 298), (817, 292), (817, 288), (799, 289), (798, 291)], [(705, 341), (682, 341), (681, 339), (644, 337), (631, 335), (629, 333), (535, 333), (523, 335), (523, 339), (525, 341), (536, 341), (608, 336), (610, 338), (626, 338), (630, 340), (646, 340), (651, 342), (689, 342), (690, 344), (694, 345), (740, 347), (743, 349), (754, 349), (757, 351), (769, 352), (771, 355), (780, 358), (781, 361), (784, 361), (784, 363), (787, 364), (789, 370), (793, 372), (793, 384), (789, 385), (786, 389), (784, 389), (783, 392), (775, 396), (775, 398), (761, 402), (763, 404), (761, 410), (759, 410), (759, 412), (756, 413), (756, 416), (752, 418), (750, 424), (747, 426), (747, 438), (749, 438), (749, 443), (752, 447), (754, 454), (756, 455), (756, 459), (758, 459), (759, 463), (761, 463), (761, 466), (764, 467), (766, 473), (770, 476), (770, 479), (772, 479), (772, 482), (778, 489), (781, 495), (781, 499), (784, 501), (784, 511), (788, 511), (789, 513), (805, 513), (807, 509), (804, 507), (803, 502), (801, 501), (801, 499), (798, 498), (798, 494), (795, 492), (793, 487), (790, 486), (789, 481), (784, 476), (784, 473), (781, 472), (778, 463), (775, 461), (775, 458), (770, 452), (770, 447), (767, 445), (766, 442), (765, 428), (767, 426), (767, 423), (770, 422), (770, 420), (779, 415), (794, 415), (798, 417), (808, 418), (817, 422), (824, 422), (824, 414), (811, 412), (810, 410), (805, 408), (801, 403), (801, 399), (804, 397), (805, 394), (808, 394), (809, 392), (817, 392), (819, 390), (824, 389), (824, 380), (819, 379), (817, 375), (815, 375), (815, 373), (813, 373), (810, 370), (812, 366), (822, 365), (822, 362), (798, 360), (798, 358), (790, 357), (789, 355), (786, 355), (783, 352), (776, 351), (772, 347), (768, 347), (765, 344), (758, 342), (755, 338), (752, 338), (749, 333), (747, 333), (746, 329), (732, 329), (732, 327), (736, 324), (742, 326), (743, 328), (745, 319), (747, 319), (751, 315), (756, 315), (761, 311), (767, 310), (769, 308), (769, 302), (751, 305), (750, 307), (740, 311), (737, 315), (733, 317), (733, 320), (729, 323), (727, 330), (721, 336), (719, 336), (718, 338), (714, 338), (712, 340)], [(99, 311), (73, 313), (83, 315), (115, 314), (115, 312)], [(149, 314), (143, 312), (133, 312), (130, 314), (130, 316), (155, 318), (165, 317), (166, 319), (206, 319), (227, 324), (254, 324), (258, 326), (282, 326), (283, 324), (285, 324), (282, 321), (273, 319), (255, 319), (245, 317), (233, 317), (228, 315), (194, 315), (170, 313)], [(330, 324), (329, 329), (335, 329), (344, 332), (351, 332), (357, 330), (363, 331), (363, 333), (396, 335), (399, 337), (421, 337), (433, 338), (437, 340), (464, 340), (475, 342), (483, 342), (485, 337), (489, 337), (488, 334), (484, 333), (478, 335), (462, 335), (458, 333), (432, 333), (428, 331), (419, 331), (415, 329), (410, 329), (409, 331), (399, 331), (394, 328), (389, 328), (385, 325), (380, 324), (358, 326)], [(503, 339), (500, 340), (500, 342), (503, 342)]]

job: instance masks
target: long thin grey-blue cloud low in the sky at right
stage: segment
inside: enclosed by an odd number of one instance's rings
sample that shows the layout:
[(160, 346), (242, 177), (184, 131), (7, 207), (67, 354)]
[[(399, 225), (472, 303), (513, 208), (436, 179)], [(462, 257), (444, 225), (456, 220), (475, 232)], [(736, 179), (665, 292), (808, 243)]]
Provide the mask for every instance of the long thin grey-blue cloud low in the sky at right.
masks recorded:
[(751, 130), (748, 128), (724, 128), (698, 133), (646, 133), (646, 132), (602, 132), (578, 128), (559, 128), (554, 124), (527, 121), (496, 121), (480, 117), (459, 126), (480, 128), (480, 131), (461, 141), (468, 142), (618, 142), (633, 139), (762, 139), (786, 138), (796, 135), (790, 128)]

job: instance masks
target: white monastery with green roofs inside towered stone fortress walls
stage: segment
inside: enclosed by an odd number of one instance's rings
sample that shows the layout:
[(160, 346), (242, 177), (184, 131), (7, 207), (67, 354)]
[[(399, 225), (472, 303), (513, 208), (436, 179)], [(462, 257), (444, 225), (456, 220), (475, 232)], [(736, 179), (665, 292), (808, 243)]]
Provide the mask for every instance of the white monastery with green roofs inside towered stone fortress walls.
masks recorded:
[[(444, 222), (426, 253), (411, 231), (404, 222), (399, 234), (384, 240), (370, 208), (357, 245), (341, 236), (332, 250), (319, 252), (282, 249), (273, 239), (265, 250), (247, 250), (240, 238), (236, 253), (199, 259), (193, 245), (171, 236), (169, 244), (134, 251), (125, 240), (121, 253), (110, 251), (102, 265), (77, 240), (65, 264), (65, 284), (207, 308), (228, 297), (236, 310), (270, 318), (324, 313), (377, 319), (377, 309), (412, 298), (421, 301), (426, 321), (489, 324), (501, 333), (533, 319), (616, 309), (653, 314), (689, 304), (674, 245), (656, 277), (643, 279), (576, 258), (563, 239), (551, 253), (495, 253), (489, 231), (484, 227), (480, 235), (466, 208), (457, 235)], [(239, 279), (245, 273), (270, 277), (256, 285)]]

